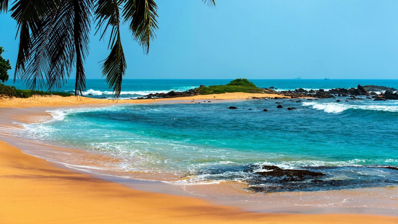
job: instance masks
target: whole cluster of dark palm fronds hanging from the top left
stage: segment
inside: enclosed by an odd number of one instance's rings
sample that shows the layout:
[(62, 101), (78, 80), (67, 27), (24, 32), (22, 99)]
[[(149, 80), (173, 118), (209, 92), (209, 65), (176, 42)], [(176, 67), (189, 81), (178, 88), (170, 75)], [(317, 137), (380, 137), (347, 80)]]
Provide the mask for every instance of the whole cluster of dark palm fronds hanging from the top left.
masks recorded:
[[(215, 6), (215, 0), (202, 0)], [(9, 0), (0, 0), (0, 12)], [(102, 73), (115, 98), (119, 97), (126, 71), (120, 25), (127, 23), (133, 40), (148, 54), (158, 23), (154, 0), (15, 0), (11, 16), (17, 21), (19, 50), (14, 82), (21, 79), (31, 90), (61, 88), (76, 71), (75, 95), (86, 90), (84, 61), (88, 55), (90, 25), (102, 39), (110, 29), (109, 56)]]

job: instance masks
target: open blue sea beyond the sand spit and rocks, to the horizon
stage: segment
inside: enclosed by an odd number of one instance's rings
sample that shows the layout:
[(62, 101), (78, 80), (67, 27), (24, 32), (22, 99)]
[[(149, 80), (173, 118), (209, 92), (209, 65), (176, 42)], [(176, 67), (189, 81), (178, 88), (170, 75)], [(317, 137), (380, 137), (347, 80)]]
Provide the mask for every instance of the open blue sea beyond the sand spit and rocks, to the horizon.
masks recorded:
[[(217, 79), (163, 79), (163, 80), (145, 80), (145, 79), (125, 79), (122, 84), (121, 99), (137, 98), (149, 93), (161, 93), (174, 91), (185, 91), (200, 85), (225, 85), (230, 80), (217, 80)], [(377, 85), (388, 86), (398, 89), (398, 80), (250, 80), (260, 88), (269, 88), (271, 86), (278, 90), (294, 90), (295, 88), (310, 89), (331, 89), (331, 88), (351, 88), (361, 85)], [(74, 93), (74, 80), (69, 80), (60, 91)], [(16, 82), (13, 84), (11, 81), (6, 84), (14, 85), (17, 88), (25, 89), (26, 86), (23, 82)], [(92, 94), (90, 97), (101, 98), (113, 96), (112, 91), (109, 90), (106, 82), (102, 79), (89, 79), (87, 80), (87, 88), (85, 94)]]

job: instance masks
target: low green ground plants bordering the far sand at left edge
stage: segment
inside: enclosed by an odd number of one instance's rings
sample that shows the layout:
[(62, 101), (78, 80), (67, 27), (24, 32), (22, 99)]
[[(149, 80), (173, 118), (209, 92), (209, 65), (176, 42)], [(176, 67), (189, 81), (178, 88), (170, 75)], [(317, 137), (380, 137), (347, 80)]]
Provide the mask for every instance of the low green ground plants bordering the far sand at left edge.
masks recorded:
[(35, 90), (34, 92), (32, 92), (31, 90), (20, 90), (15, 88), (15, 86), (7, 86), (0, 83), (0, 96), (29, 98), (33, 95), (60, 95), (66, 97), (72, 96), (73, 94), (64, 92), (44, 92), (39, 90)]

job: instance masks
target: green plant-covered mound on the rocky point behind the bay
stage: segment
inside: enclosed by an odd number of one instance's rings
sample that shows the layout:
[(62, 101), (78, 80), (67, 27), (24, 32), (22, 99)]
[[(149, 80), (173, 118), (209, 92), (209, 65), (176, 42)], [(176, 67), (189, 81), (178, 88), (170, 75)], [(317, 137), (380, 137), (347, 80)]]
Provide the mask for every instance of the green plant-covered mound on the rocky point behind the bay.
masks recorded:
[(199, 88), (200, 95), (220, 94), (220, 93), (256, 93), (261, 90), (252, 82), (245, 78), (238, 78), (226, 85), (220, 86), (201, 86)]

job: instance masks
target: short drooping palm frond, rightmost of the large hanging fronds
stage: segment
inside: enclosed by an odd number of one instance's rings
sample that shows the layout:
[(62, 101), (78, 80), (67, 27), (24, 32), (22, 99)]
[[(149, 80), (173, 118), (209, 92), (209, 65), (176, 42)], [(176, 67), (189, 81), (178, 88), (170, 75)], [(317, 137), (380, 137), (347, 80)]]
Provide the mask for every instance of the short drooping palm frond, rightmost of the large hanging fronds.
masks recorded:
[(149, 53), (149, 44), (158, 29), (158, 6), (154, 0), (125, 0), (123, 17), (129, 23), (133, 39), (139, 41), (146, 54)]

